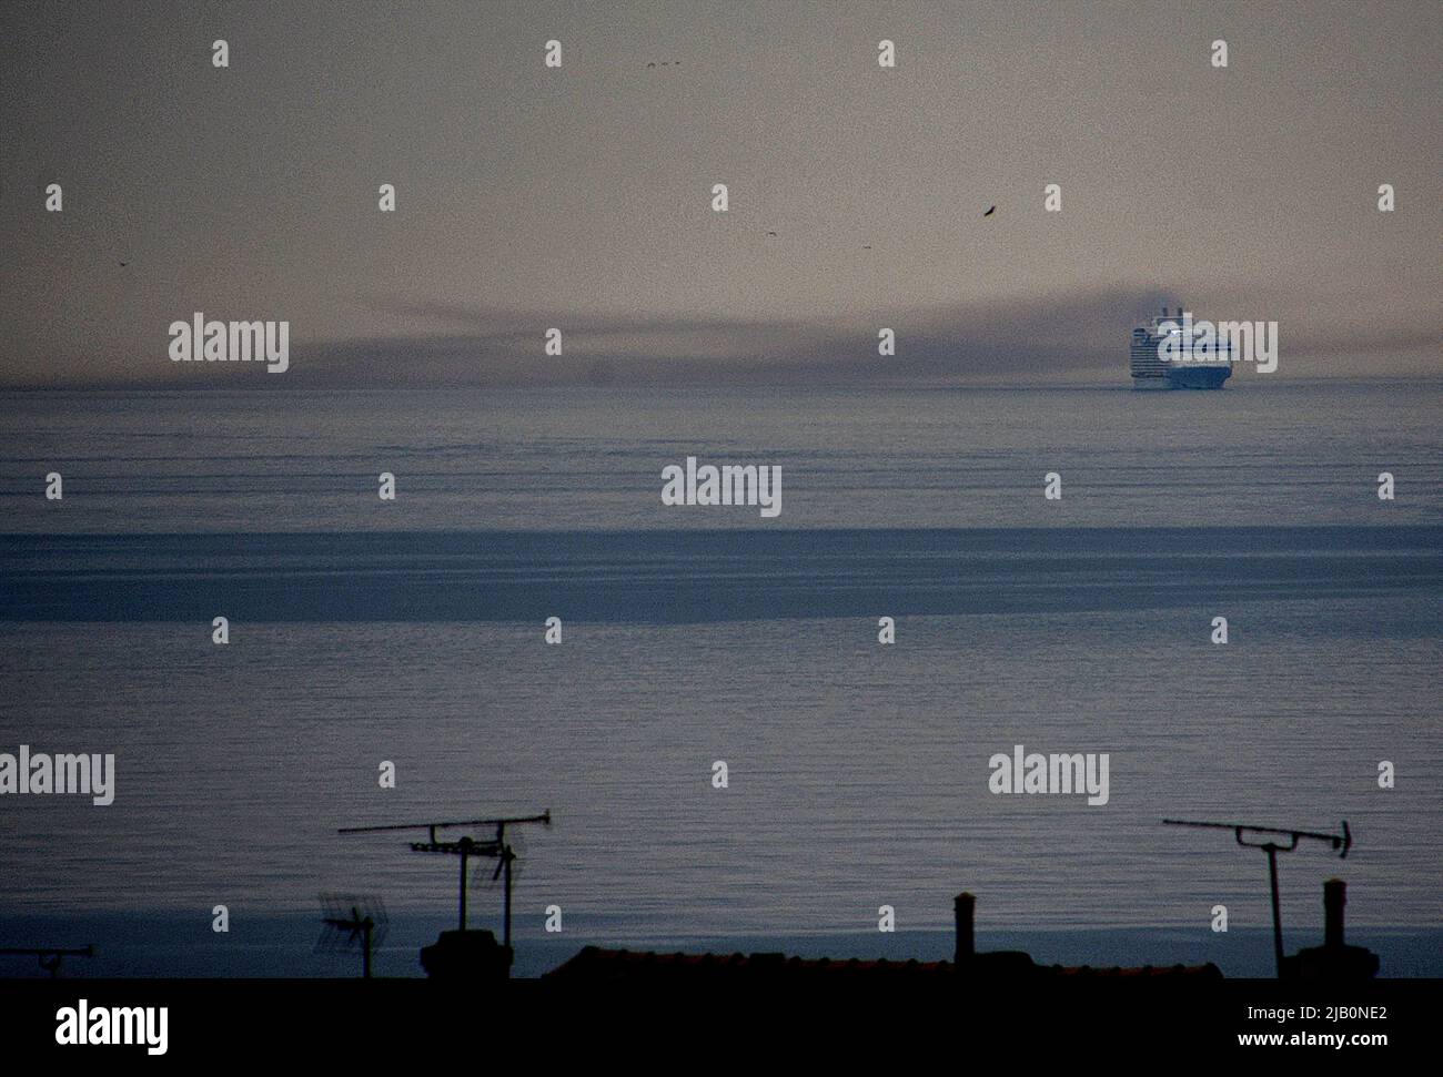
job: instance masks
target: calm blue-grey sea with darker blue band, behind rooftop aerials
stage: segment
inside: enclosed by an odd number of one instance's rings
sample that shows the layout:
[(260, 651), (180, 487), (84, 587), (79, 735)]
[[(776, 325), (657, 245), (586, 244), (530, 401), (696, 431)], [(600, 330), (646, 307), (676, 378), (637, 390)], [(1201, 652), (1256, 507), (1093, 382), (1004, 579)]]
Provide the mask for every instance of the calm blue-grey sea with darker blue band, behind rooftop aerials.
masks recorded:
[[(518, 933), (558, 904), (573, 949), (945, 928), (964, 888), (983, 930), (1266, 927), (1261, 854), (1163, 816), (1348, 819), (1281, 859), (1290, 949), (1332, 875), (1349, 926), (1439, 926), (1443, 384), (0, 402), (0, 750), (118, 768), (0, 802), (0, 934), (443, 918), (455, 861), (336, 828), (547, 807)], [(662, 506), (687, 456), (781, 464), (781, 518)], [(1014, 744), (1110, 753), (1110, 803), (990, 794)]]

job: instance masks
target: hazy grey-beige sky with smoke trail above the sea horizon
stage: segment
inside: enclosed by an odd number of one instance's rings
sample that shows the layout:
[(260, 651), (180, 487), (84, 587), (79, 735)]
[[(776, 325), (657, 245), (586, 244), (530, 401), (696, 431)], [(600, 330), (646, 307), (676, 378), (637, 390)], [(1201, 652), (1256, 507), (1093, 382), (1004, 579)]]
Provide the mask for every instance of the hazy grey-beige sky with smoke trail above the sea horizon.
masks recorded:
[[(1278, 376), (1443, 372), (1433, 0), (0, 23), (6, 384), (1121, 378), (1130, 317), (1169, 298), (1277, 320)], [(198, 310), (289, 320), (290, 371), (172, 363)]]

